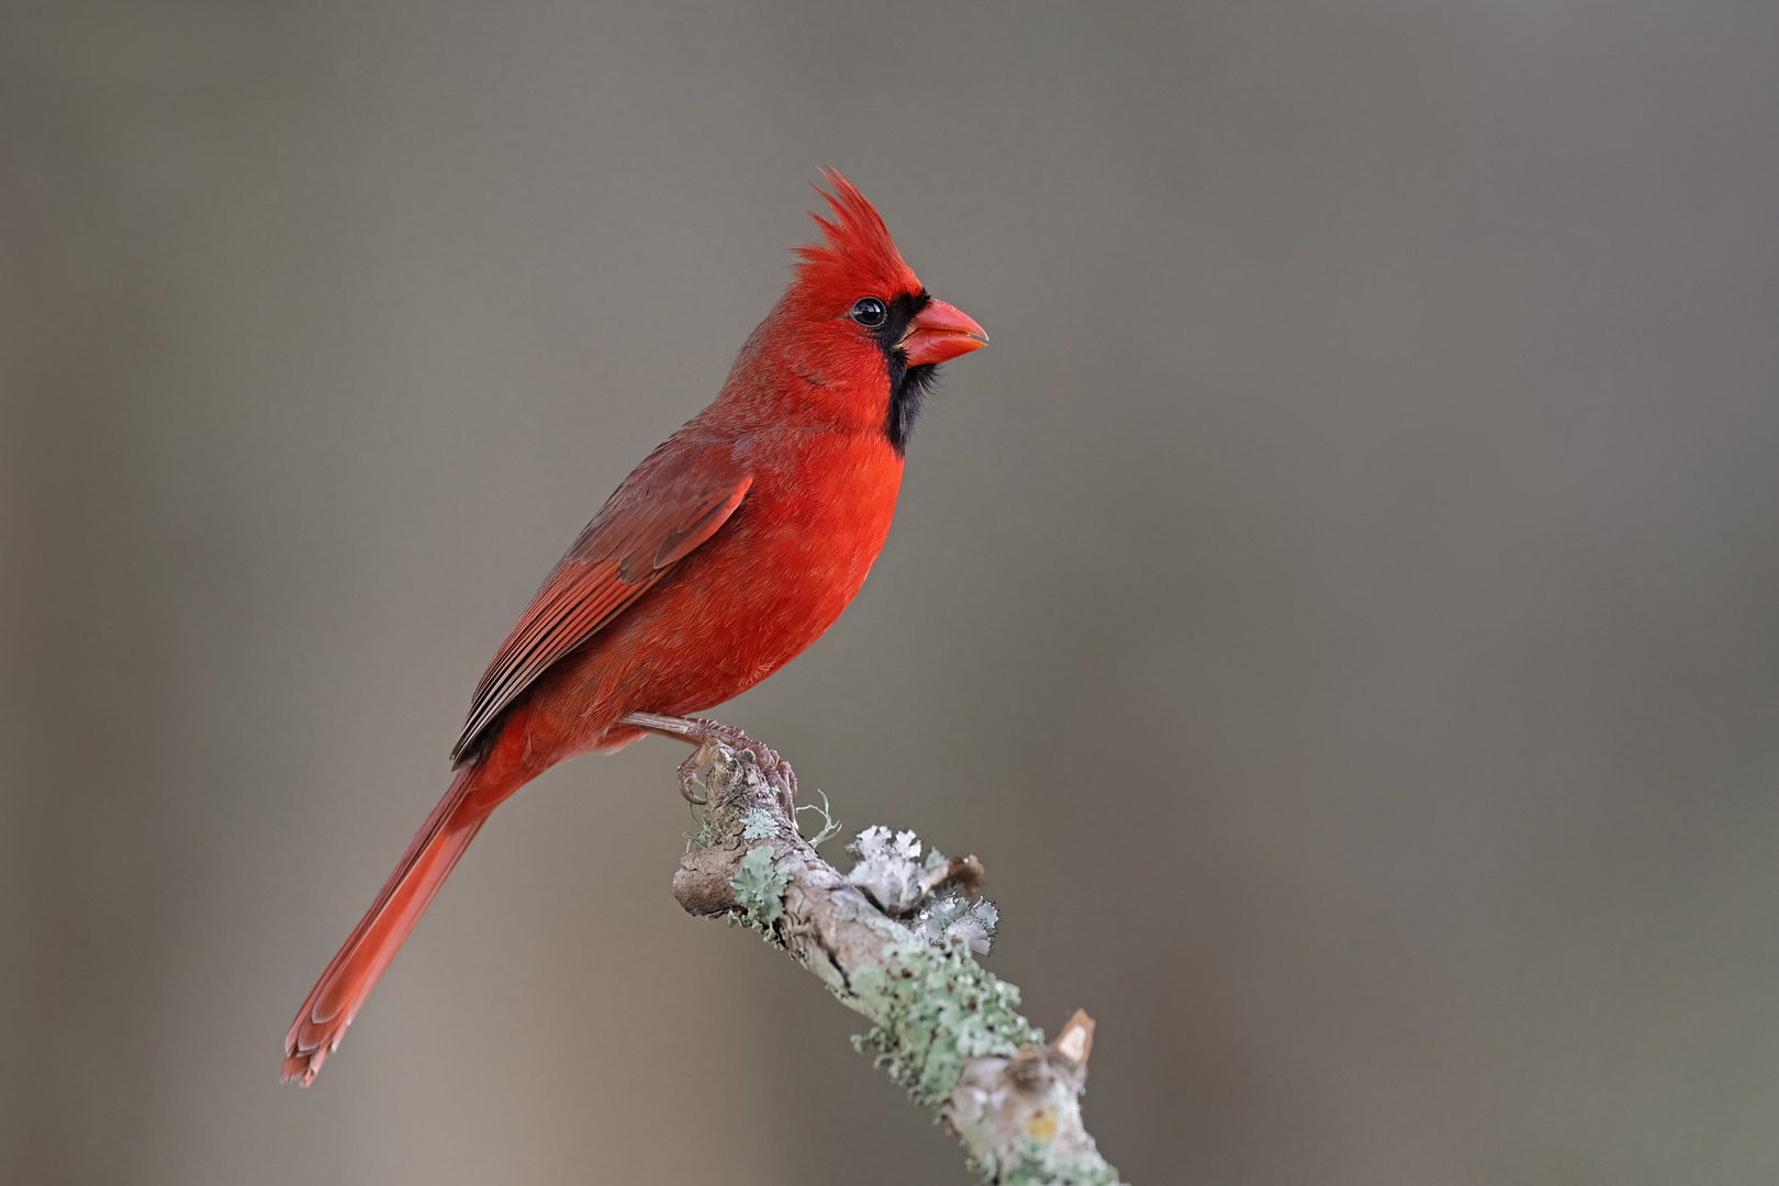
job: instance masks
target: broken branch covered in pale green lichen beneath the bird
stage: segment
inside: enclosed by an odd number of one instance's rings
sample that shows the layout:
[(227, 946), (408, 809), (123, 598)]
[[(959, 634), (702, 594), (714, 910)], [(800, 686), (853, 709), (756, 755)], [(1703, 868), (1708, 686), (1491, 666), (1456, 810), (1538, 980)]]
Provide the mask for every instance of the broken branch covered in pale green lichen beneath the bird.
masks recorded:
[(911, 832), (866, 829), (843, 875), (799, 834), (783, 781), (753, 752), (704, 752), (704, 827), (672, 878), (680, 905), (760, 930), (863, 1014), (870, 1031), (854, 1042), (938, 1111), (984, 1181), (1114, 1186), (1082, 1126), (1094, 1022), (1076, 1012), (1046, 1046), (1019, 990), (977, 964), (994, 907), (971, 900), (975, 857), (920, 861)]

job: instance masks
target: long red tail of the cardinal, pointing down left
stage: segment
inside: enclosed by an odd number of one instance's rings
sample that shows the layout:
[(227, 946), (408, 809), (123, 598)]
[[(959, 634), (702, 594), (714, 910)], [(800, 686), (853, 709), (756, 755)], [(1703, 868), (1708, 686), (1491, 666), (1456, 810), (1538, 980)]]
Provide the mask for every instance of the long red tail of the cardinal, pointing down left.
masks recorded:
[(382, 893), (297, 1010), (297, 1021), (285, 1037), (285, 1083), (301, 1078), (302, 1086), (308, 1086), (315, 1081), (327, 1054), (345, 1037), (358, 1006), (370, 996), (464, 848), (482, 830), (495, 804), (486, 795), (473, 795), (477, 770), (479, 766), (468, 766), (452, 781), (445, 798), (415, 832), (415, 843), (407, 846)]

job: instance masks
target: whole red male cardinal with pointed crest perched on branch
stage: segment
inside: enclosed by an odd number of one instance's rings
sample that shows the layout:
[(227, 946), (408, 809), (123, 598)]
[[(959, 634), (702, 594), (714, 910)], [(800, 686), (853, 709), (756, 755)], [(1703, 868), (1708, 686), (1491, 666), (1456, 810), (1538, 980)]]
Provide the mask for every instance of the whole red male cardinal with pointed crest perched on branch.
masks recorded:
[(934, 370), (987, 345), (914, 279), (865, 196), (825, 178), (824, 242), (797, 249), (722, 391), (624, 478), (489, 663), (457, 777), (290, 1026), (286, 1083), (315, 1079), (482, 821), (550, 766), (655, 731), (749, 745), (779, 770), (740, 733), (683, 717), (840, 617), (890, 532)]

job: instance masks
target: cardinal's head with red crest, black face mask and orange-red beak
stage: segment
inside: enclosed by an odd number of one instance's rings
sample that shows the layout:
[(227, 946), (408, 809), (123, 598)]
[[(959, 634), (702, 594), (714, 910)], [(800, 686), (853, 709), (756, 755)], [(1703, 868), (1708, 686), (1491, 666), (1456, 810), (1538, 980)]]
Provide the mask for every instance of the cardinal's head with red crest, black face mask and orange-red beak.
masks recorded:
[(786, 357), (815, 386), (868, 398), (890, 445), (902, 452), (938, 365), (980, 350), (989, 338), (927, 292), (850, 181), (833, 169), (822, 176), (833, 188), (822, 194), (833, 219), (815, 215), (822, 242), (797, 249), (797, 274), (781, 306), (797, 327)]

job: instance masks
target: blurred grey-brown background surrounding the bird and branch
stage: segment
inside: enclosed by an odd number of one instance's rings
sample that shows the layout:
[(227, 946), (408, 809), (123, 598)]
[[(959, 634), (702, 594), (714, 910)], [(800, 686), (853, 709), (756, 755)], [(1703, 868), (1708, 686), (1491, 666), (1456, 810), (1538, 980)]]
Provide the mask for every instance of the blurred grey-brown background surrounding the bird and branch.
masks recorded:
[(720, 717), (986, 861), (1112, 1161), (1779, 1179), (1779, 7), (11, 0), (7, 1181), (966, 1181), (658, 740), (276, 1079), (822, 164), (994, 345)]

